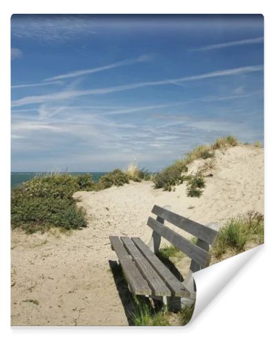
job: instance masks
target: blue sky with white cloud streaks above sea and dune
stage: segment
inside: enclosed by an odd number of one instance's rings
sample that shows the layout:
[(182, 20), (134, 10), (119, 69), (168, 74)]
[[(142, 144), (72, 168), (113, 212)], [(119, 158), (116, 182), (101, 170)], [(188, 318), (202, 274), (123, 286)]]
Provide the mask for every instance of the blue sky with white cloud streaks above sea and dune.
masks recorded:
[(12, 171), (158, 171), (263, 142), (261, 15), (13, 15)]

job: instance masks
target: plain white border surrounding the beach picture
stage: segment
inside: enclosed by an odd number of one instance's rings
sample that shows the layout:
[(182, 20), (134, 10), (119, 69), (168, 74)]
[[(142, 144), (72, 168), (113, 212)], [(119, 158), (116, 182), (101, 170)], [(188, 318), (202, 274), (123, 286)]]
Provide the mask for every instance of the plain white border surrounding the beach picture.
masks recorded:
[[(272, 1), (4, 1), (1, 42), (1, 338), (3, 343), (263, 343), (274, 338), (274, 12)], [(22, 327), (10, 329), (10, 16), (13, 13), (261, 13), (265, 17), (265, 247), (188, 327)], [(272, 156), (273, 155), (273, 156)], [(2, 269), (3, 265), (3, 269)], [(4, 277), (4, 278), (3, 278)], [(271, 312), (270, 312), (271, 311)], [(4, 338), (5, 336), (5, 338)], [(268, 340), (267, 340), (268, 341)]]

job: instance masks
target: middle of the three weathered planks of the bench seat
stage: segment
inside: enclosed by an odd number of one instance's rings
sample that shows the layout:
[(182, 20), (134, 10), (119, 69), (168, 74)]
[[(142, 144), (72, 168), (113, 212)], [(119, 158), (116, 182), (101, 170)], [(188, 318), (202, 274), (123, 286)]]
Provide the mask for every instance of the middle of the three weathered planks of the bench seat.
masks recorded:
[(162, 281), (151, 264), (149, 264), (144, 258), (140, 250), (137, 249), (133, 241), (129, 237), (120, 237), (120, 239), (126, 250), (133, 258), (133, 261), (135, 261), (135, 264), (137, 268), (139, 268), (142, 276), (144, 279), (146, 279), (148, 285), (151, 287), (153, 295), (170, 297), (170, 289), (168, 289), (164, 281)]

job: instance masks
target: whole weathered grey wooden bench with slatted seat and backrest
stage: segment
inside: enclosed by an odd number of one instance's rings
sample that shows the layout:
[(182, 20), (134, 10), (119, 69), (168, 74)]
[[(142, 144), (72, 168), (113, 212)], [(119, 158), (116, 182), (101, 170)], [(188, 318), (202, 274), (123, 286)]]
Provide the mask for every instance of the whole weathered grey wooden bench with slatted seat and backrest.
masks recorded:
[[(217, 230), (177, 215), (168, 210), (154, 206), (152, 213), (157, 219), (148, 217), (148, 226), (153, 229), (148, 246), (138, 237), (110, 236), (111, 248), (118, 255), (120, 265), (126, 277), (129, 290), (136, 295), (146, 295), (153, 299), (162, 299), (170, 308), (189, 307), (195, 302), (196, 287), (192, 272), (206, 268), (210, 263), (209, 245), (217, 237)], [(182, 237), (168, 226), (170, 222), (197, 237), (197, 243)], [(155, 255), (159, 250), (161, 237), (191, 259), (190, 270), (181, 282)]]

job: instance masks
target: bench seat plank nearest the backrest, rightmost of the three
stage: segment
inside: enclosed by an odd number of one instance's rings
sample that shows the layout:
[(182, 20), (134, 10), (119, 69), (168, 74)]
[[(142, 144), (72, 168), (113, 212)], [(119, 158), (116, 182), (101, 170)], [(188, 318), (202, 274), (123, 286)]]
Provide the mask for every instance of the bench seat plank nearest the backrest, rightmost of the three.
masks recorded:
[(172, 272), (160, 261), (156, 255), (148, 248), (148, 246), (139, 237), (132, 237), (135, 246), (142, 252), (142, 255), (157, 271), (159, 276), (164, 280), (166, 286), (171, 290), (172, 296), (175, 297), (189, 297), (190, 292), (184, 288), (183, 284), (173, 275)]

